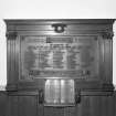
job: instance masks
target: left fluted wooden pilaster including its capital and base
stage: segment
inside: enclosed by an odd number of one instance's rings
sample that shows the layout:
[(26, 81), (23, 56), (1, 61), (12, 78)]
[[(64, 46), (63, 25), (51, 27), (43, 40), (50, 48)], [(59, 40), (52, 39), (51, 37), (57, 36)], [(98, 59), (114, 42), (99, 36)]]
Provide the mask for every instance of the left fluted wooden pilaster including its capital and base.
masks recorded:
[[(15, 89), (17, 82), (18, 82), (18, 59), (15, 57), (15, 39), (17, 35), (14, 32), (8, 33), (8, 41), (7, 41), (7, 88), (8, 89)], [(18, 48), (18, 46), (17, 46)]]

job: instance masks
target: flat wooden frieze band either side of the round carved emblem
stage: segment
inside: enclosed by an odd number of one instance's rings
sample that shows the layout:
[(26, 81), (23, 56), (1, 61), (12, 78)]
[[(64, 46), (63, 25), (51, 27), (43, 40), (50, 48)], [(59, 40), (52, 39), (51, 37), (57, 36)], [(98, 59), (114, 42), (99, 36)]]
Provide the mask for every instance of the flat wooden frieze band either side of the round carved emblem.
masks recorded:
[[(110, 30), (112, 25), (110, 24), (97, 24), (95, 28), (93, 24), (66, 24), (67, 27), (65, 28), (66, 31), (78, 31), (78, 30)], [(13, 31), (14, 27), (9, 25), (8, 30)], [(15, 27), (15, 31), (53, 31), (54, 28), (51, 24), (36, 24), (36, 25), (24, 25), (24, 24), (19, 24)]]

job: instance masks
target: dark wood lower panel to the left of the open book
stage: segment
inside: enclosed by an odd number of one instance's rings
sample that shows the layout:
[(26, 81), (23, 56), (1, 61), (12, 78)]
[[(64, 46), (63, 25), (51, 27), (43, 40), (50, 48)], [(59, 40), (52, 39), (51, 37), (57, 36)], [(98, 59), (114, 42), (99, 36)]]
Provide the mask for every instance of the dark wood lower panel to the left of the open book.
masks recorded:
[(38, 116), (38, 96), (9, 96), (7, 116)]

